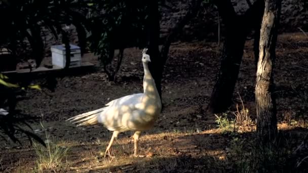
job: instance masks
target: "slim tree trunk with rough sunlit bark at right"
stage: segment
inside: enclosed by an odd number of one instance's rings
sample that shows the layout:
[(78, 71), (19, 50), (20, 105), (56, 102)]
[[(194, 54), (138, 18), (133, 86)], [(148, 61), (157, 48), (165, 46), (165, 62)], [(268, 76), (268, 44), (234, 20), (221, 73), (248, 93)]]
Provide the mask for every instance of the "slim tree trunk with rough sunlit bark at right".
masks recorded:
[(255, 88), (257, 135), (262, 142), (273, 141), (277, 135), (273, 69), (280, 11), (281, 0), (265, 0)]

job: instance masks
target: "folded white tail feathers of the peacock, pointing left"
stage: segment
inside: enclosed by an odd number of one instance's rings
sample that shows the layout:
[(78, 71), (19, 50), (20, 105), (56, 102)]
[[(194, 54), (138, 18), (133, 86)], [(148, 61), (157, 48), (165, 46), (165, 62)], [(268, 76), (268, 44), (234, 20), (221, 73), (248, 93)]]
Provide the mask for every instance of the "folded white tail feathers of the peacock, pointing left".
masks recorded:
[(107, 107), (104, 107), (94, 111), (76, 115), (71, 118), (68, 118), (66, 121), (71, 121), (73, 124), (79, 123), (77, 126), (97, 124), (98, 123), (97, 116), (99, 115), (100, 112), (103, 112), (106, 108)]

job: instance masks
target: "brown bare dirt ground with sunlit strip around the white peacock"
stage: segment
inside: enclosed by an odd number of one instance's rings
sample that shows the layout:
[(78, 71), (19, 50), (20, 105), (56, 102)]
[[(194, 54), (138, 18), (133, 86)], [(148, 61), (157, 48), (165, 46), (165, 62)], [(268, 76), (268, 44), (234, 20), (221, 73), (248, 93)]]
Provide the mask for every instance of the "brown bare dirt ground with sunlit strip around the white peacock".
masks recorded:
[[(140, 153), (150, 157), (133, 158), (132, 133), (119, 136), (113, 147), (115, 158), (98, 159), (110, 140), (111, 132), (101, 125), (75, 127), (65, 119), (101, 108), (109, 100), (142, 92), (143, 69), (140, 50), (126, 49), (117, 81), (109, 82), (101, 70), (57, 78), (55, 92), (29, 91), (19, 102), (24, 113), (40, 116), (42, 124), (33, 124), (36, 133), (46, 140), (70, 147), (56, 172), (230, 172), (229, 159), (234, 136), (217, 128), (216, 117), (206, 111), (219, 67), (219, 50), (215, 42), (177, 42), (171, 46), (163, 76), (163, 112), (153, 129), (143, 132)], [(91, 55), (90, 61), (99, 62)], [(99, 69), (99, 68), (97, 68)], [(234, 93), (234, 106), (239, 95), (255, 120), (255, 65), (252, 41), (247, 41), (239, 79)], [(279, 36), (275, 83), (279, 130), (292, 139), (308, 134), (307, 110), (302, 95), (308, 91), (308, 38), (302, 33)], [(44, 78), (34, 82), (41, 84)], [(288, 115), (288, 117), (286, 117)], [(289, 123), (287, 123), (287, 121)], [(307, 122), (306, 122), (307, 123)], [(240, 128), (239, 128), (240, 129)], [(255, 127), (237, 130), (243, 141), (253, 139)], [(296, 142), (295, 142), (296, 141)], [(294, 140), (290, 149), (298, 145)], [(36, 172), (37, 156), (28, 141), (23, 146), (0, 142), (0, 171)]]

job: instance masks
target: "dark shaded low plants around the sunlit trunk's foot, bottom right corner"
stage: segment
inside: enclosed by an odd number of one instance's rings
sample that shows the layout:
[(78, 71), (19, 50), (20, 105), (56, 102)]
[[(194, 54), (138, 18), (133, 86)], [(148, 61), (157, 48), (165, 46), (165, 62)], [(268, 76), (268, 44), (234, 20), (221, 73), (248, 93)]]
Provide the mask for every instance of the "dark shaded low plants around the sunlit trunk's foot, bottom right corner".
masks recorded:
[(295, 139), (290, 138), (291, 136), (281, 135), (276, 141), (266, 145), (260, 145), (257, 138), (252, 141), (234, 138), (228, 156), (228, 159), (234, 160), (232, 169), (235, 172), (305, 172), (300, 170), (306, 169), (306, 166), (297, 161), (306, 156), (304, 152), (307, 148), (299, 155), (295, 154), (301, 146), (294, 150), (292, 144)]

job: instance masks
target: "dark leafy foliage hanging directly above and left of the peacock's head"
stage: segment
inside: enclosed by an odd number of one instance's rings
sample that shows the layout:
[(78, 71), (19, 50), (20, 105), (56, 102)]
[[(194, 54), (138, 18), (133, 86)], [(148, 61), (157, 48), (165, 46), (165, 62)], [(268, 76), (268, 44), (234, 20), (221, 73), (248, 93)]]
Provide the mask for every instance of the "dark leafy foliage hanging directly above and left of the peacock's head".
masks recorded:
[(112, 62), (115, 49), (144, 47), (147, 7), (144, 1), (120, 0), (95, 1), (93, 7), (90, 48), (99, 56), (104, 70), (111, 77), (106, 67)]

